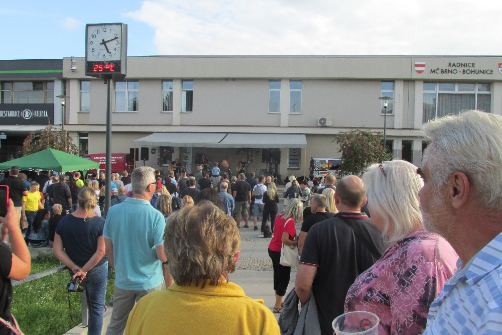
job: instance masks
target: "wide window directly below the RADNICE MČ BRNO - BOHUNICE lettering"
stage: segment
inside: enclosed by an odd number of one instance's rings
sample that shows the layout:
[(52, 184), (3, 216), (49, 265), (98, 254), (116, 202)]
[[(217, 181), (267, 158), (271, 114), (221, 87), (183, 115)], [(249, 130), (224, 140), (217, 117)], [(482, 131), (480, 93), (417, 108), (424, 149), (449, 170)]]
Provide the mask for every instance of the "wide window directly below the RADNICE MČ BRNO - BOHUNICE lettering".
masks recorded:
[(462, 110), (491, 112), (491, 85), (424, 82), (423, 123)]

